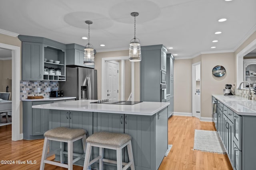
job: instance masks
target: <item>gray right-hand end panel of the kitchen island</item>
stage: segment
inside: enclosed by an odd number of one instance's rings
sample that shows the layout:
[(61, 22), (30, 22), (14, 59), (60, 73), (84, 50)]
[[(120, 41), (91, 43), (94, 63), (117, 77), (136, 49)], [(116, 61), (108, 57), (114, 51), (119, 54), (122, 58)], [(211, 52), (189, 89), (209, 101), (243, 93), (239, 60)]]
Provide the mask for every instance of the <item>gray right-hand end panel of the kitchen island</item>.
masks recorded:
[(167, 108), (155, 114), (156, 119), (156, 169), (160, 166), (168, 149)]

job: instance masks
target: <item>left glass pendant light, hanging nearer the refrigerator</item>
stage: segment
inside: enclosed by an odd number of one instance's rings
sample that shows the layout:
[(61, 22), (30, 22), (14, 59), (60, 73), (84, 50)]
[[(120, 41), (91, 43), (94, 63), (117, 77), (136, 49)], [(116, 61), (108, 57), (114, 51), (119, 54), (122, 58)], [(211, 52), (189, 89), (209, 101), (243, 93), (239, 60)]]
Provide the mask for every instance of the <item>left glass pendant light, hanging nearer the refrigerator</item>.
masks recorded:
[(90, 44), (90, 24), (92, 21), (85, 21), (88, 24), (88, 44), (84, 47), (84, 64), (94, 64), (94, 49), (93, 46)]

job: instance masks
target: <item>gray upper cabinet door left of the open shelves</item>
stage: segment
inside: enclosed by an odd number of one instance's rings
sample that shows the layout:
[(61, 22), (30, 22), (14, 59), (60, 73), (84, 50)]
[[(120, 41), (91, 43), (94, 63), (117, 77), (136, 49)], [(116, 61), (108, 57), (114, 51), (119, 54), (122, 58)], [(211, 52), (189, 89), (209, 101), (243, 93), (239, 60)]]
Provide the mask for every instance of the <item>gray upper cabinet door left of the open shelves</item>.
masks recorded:
[(22, 42), (22, 80), (43, 80), (42, 43)]

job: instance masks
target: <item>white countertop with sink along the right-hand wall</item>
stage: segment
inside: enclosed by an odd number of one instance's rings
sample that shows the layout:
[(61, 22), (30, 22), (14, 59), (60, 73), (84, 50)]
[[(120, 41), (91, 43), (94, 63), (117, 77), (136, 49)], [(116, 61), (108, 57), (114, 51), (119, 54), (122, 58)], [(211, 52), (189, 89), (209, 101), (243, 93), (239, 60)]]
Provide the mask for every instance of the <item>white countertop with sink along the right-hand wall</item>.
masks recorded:
[(228, 106), (238, 115), (252, 115), (256, 116), (256, 101), (248, 100), (240, 96), (224, 96), (224, 95), (212, 95), (214, 98)]

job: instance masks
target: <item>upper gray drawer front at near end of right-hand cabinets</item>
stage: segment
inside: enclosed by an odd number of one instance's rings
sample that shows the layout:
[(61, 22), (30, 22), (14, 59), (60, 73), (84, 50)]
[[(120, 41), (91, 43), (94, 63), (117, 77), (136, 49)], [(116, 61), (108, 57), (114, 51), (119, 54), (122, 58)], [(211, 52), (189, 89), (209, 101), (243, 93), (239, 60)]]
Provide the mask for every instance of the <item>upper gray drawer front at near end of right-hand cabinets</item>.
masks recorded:
[(242, 116), (234, 113), (233, 123), (234, 143), (236, 144), (239, 150), (242, 150)]

